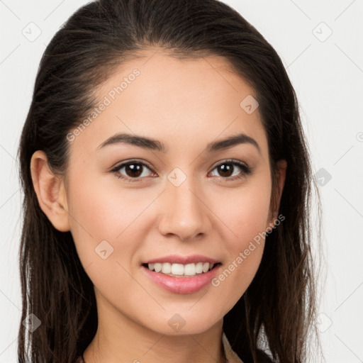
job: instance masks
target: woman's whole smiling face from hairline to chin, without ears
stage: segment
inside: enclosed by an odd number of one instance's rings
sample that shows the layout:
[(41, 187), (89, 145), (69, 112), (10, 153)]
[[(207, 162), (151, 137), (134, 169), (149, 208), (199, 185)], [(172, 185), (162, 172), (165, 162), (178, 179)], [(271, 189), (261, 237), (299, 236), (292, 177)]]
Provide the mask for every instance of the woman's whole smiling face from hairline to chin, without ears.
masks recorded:
[(163, 334), (201, 333), (250, 285), (273, 220), (255, 92), (222, 58), (149, 52), (96, 94), (89, 122), (69, 134), (65, 191), (99, 313)]

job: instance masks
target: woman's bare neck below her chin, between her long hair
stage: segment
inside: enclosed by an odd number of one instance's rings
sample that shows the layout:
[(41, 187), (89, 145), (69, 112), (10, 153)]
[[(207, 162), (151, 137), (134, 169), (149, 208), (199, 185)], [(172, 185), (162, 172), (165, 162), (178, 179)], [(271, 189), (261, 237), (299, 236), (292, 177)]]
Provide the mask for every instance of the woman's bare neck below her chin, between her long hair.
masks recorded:
[[(103, 310), (94, 339), (84, 351), (85, 363), (225, 363), (223, 320), (203, 333), (164, 335), (125, 315)], [(112, 318), (111, 318), (112, 317)]]

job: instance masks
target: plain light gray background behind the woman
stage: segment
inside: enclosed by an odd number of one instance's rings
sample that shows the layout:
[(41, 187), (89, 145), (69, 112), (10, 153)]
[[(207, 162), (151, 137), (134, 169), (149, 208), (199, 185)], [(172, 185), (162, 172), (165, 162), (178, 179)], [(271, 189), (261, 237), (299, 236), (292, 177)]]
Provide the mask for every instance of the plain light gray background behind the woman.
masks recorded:
[[(0, 363), (16, 362), (21, 313), (19, 137), (45, 45), (86, 2), (0, 0)], [(324, 168), (331, 175), (327, 182), (318, 174), (326, 281), (321, 274), (325, 290), (317, 323), (326, 362), (363, 362), (363, 1), (225, 3), (279, 53), (298, 95), (314, 173)], [(31, 38), (37, 31), (38, 38)]]

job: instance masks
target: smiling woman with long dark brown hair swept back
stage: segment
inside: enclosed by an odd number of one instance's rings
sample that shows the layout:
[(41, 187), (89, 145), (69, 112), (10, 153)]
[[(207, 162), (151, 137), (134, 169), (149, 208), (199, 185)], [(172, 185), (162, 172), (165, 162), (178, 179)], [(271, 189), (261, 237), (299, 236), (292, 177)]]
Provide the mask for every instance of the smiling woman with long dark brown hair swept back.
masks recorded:
[(315, 184), (284, 66), (239, 13), (86, 4), (19, 157), (19, 362), (306, 362)]

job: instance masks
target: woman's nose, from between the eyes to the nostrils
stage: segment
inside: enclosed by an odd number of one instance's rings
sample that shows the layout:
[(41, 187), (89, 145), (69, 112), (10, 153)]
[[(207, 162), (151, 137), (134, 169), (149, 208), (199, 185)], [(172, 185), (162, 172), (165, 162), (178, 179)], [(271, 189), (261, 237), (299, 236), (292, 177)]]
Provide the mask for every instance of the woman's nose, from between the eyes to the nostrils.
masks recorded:
[(201, 238), (211, 228), (211, 213), (201, 188), (191, 182), (192, 177), (179, 186), (167, 181), (162, 194), (159, 230), (162, 235), (176, 235), (183, 242)]

